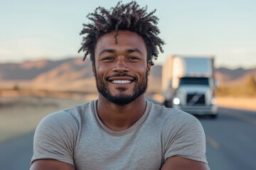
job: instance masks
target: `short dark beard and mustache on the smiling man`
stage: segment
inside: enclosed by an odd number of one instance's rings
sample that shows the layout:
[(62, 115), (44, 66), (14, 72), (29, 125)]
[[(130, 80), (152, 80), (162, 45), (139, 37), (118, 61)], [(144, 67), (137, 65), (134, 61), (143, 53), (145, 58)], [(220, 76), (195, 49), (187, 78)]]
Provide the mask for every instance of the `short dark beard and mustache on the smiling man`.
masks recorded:
[[(115, 74), (114, 77), (124, 77), (128, 76), (131, 77), (127, 74)], [(141, 82), (138, 82), (137, 78), (134, 78), (135, 81), (135, 86), (134, 89), (132, 90), (132, 94), (124, 94), (122, 93), (126, 89), (124, 88), (119, 88), (117, 89), (119, 91), (119, 94), (117, 95), (112, 95), (110, 89), (107, 89), (107, 84), (109, 84), (109, 81), (107, 80), (102, 80), (100, 77), (97, 77), (97, 72), (95, 72), (95, 79), (96, 79), (96, 85), (97, 85), (97, 91), (102, 94), (105, 98), (107, 98), (108, 101), (118, 105), (118, 106), (125, 106), (132, 101), (134, 101), (136, 98), (141, 96), (142, 94), (145, 93), (146, 88), (148, 86), (148, 74), (146, 71), (146, 74), (144, 77), (142, 77)], [(105, 83), (107, 82), (107, 83)]]

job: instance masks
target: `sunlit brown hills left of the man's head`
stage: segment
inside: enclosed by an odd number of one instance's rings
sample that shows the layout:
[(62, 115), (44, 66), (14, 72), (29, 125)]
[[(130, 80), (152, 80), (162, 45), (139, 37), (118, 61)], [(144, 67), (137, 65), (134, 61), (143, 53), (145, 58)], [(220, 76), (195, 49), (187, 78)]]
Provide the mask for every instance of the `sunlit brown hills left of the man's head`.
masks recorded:
[(0, 64), (0, 88), (91, 91), (91, 63), (81, 59)]

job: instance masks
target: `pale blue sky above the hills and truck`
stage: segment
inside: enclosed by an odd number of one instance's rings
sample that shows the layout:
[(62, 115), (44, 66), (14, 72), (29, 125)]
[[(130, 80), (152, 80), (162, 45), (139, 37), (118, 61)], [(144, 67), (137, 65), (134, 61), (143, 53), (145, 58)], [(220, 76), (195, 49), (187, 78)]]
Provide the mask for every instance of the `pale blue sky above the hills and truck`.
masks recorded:
[[(149, 12), (156, 8), (159, 37), (166, 42), (156, 64), (171, 55), (213, 55), (216, 67), (256, 68), (255, 0), (137, 3)], [(116, 4), (114, 0), (0, 0), (0, 63), (82, 58), (79, 33), (82, 23), (88, 22), (87, 13)]]

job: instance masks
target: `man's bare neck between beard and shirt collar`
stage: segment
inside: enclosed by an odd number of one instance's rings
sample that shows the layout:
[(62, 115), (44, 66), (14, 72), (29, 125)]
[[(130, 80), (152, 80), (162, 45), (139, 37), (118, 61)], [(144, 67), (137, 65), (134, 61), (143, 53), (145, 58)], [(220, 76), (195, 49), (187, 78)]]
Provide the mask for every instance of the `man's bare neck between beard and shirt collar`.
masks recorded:
[(99, 94), (97, 114), (102, 123), (113, 131), (122, 131), (130, 128), (142, 117), (146, 110), (144, 95), (139, 96), (131, 103), (118, 106)]

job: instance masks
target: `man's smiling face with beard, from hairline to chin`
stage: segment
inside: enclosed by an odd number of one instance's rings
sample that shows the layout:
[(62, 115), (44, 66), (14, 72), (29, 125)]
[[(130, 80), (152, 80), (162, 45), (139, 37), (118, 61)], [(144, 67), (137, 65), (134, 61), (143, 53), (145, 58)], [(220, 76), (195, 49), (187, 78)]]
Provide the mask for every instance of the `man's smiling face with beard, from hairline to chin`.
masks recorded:
[(141, 36), (119, 30), (115, 44), (114, 35), (113, 31), (97, 40), (92, 69), (99, 93), (108, 101), (124, 106), (146, 91), (150, 64)]

